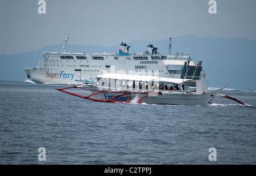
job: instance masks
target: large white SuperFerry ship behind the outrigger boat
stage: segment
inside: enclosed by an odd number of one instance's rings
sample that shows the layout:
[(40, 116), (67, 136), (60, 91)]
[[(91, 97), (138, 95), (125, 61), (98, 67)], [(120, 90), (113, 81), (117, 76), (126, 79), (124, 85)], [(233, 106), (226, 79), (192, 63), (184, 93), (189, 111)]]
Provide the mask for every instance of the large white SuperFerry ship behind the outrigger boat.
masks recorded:
[(117, 74), (161, 76), (166, 78), (199, 78), (202, 66), (197, 65), (190, 55), (158, 53), (153, 45), (146, 46), (146, 51), (130, 54), (125, 43), (119, 45), (119, 53), (67, 53), (69, 36), (64, 39), (60, 52), (43, 52), (44, 60), (36, 68), (24, 68), (27, 77), (36, 83), (81, 84), (81, 81), (96, 82), (100, 71)]

